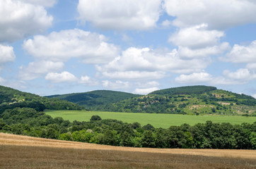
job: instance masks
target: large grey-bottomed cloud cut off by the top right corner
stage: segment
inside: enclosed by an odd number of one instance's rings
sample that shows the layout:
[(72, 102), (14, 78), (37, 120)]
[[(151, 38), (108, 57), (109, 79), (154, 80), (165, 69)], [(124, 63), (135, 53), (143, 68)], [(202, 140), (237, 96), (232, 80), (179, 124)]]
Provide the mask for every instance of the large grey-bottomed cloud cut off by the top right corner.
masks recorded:
[(165, 0), (164, 8), (176, 17), (173, 25), (178, 27), (207, 23), (211, 30), (219, 30), (256, 22), (255, 1)]

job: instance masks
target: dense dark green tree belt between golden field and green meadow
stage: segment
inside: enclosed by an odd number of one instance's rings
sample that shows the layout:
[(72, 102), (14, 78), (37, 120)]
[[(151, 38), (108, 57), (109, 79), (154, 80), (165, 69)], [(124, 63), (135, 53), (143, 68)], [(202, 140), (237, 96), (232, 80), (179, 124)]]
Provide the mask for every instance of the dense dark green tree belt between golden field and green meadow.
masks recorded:
[(33, 108), (14, 108), (0, 115), (0, 132), (113, 146), (256, 149), (256, 122), (231, 125), (207, 121), (163, 129), (150, 124), (141, 127), (139, 123), (102, 120), (98, 115), (88, 122), (71, 123)]

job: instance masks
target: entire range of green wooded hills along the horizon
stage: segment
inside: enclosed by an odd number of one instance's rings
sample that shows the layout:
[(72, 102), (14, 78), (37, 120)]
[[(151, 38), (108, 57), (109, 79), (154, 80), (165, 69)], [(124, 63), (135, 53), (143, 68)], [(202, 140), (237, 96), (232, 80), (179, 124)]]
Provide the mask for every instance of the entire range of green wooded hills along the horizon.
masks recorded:
[(91, 111), (256, 116), (256, 99), (252, 96), (207, 86), (174, 87), (148, 95), (96, 90), (47, 97), (0, 86), (0, 113), (15, 107), (37, 111), (81, 110), (83, 107)]

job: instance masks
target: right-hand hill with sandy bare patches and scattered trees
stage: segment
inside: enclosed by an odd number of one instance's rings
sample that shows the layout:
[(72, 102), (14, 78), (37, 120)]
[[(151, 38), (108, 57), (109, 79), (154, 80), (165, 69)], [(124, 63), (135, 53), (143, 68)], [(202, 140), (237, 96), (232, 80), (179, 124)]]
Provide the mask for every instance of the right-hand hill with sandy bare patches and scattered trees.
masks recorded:
[(119, 101), (101, 111), (173, 114), (256, 115), (256, 99), (216, 87), (176, 87)]

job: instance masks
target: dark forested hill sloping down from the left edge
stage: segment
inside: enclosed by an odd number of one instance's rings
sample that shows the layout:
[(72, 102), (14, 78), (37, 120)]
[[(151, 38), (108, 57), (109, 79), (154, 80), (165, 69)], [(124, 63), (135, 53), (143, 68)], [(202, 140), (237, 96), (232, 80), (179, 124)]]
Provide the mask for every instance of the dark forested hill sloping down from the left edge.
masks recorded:
[(34, 108), (36, 111), (44, 111), (45, 109), (81, 110), (81, 106), (69, 101), (49, 99), (36, 94), (21, 92), (10, 87), (0, 86), (0, 114), (6, 109), (16, 107)]

